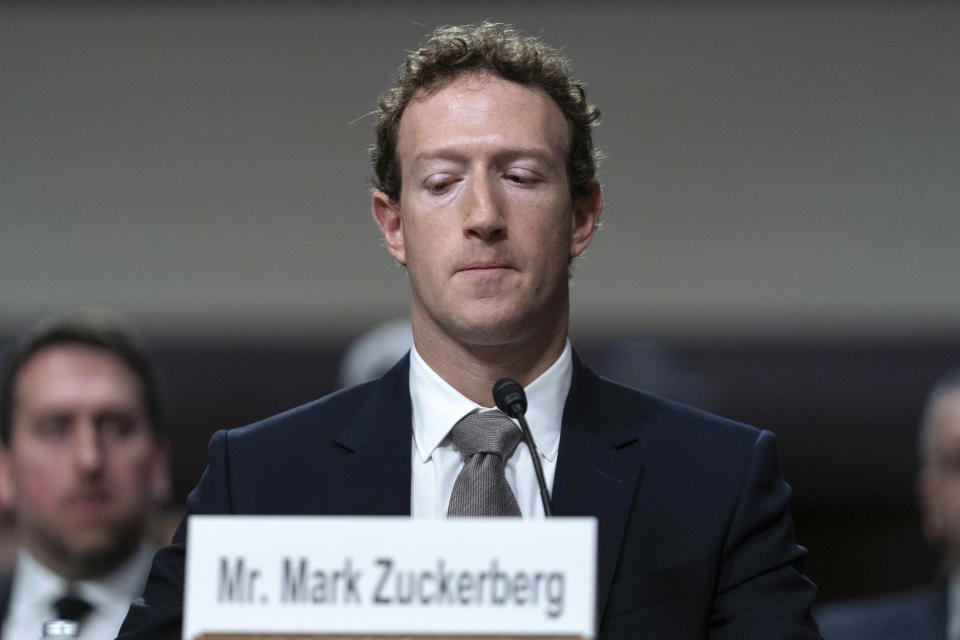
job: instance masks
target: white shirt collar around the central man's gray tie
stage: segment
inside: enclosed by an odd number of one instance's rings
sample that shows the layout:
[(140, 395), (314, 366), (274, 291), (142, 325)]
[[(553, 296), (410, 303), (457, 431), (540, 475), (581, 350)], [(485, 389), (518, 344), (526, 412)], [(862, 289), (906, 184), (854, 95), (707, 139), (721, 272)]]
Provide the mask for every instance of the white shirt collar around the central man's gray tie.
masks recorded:
[[(550, 461), (560, 447), (563, 407), (573, 377), (573, 352), (567, 340), (560, 357), (525, 387), (527, 423), (540, 455)], [(413, 438), (420, 460), (426, 462), (456, 422), (479, 405), (437, 374), (417, 352), (410, 350), (410, 399)], [(482, 408), (482, 407), (481, 407)]]

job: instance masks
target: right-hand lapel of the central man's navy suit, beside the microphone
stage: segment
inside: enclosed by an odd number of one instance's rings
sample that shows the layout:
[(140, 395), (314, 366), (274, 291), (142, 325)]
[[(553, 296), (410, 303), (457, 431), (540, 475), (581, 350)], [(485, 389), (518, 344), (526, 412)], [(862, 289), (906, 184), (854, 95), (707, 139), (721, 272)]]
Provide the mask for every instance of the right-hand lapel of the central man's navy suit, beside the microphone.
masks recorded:
[(551, 498), (556, 515), (597, 518), (598, 621), (613, 583), (642, 469), (629, 447), (637, 435), (623, 428), (624, 415), (615, 414), (605, 402), (605, 384), (574, 354)]

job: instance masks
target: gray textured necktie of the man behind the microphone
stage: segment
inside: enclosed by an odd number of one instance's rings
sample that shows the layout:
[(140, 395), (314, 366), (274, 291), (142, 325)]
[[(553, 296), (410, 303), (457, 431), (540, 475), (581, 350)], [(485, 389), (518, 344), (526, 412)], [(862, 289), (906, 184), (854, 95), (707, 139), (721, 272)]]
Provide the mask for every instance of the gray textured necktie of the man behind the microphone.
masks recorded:
[(464, 460), (453, 483), (448, 516), (519, 516), (517, 499), (503, 475), (522, 434), (500, 411), (474, 411), (453, 425), (450, 438)]

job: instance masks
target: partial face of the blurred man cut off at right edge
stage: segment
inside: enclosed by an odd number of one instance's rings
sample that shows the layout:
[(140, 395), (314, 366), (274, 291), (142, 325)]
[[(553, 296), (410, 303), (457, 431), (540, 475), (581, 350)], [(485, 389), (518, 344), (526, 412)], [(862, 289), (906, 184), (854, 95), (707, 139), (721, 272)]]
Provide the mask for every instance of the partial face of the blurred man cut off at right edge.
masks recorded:
[(946, 546), (948, 562), (960, 566), (960, 390), (935, 403), (929, 429), (929, 463), (920, 476), (924, 527)]

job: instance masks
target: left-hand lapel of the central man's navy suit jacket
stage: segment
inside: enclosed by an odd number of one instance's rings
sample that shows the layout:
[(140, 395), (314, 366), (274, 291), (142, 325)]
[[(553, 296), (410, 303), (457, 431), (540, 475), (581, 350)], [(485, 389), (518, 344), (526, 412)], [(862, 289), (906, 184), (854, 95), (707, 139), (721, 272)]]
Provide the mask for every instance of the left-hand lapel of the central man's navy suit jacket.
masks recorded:
[(334, 442), (348, 453), (326, 471), (328, 512), (410, 515), (409, 356), (376, 381)]

